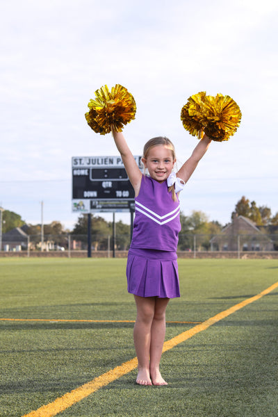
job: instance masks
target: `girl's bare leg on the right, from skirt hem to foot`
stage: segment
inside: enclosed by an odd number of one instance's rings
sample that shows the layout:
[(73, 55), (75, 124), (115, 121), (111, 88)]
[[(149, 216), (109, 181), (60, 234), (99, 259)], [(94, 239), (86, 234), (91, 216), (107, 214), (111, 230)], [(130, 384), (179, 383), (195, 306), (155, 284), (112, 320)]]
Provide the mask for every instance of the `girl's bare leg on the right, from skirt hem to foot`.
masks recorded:
[(161, 377), (159, 363), (161, 361), (161, 354), (165, 339), (165, 316), (168, 302), (169, 298), (156, 298), (154, 305), (154, 318), (152, 321), (151, 345), (149, 350), (149, 370), (152, 384), (154, 385), (167, 385), (165, 379)]

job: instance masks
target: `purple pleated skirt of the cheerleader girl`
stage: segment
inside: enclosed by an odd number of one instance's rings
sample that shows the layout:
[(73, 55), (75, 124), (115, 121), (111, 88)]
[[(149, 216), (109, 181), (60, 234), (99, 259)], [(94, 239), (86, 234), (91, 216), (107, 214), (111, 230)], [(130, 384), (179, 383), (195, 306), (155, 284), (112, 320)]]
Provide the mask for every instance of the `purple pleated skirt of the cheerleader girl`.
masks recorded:
[(176, 252), (130, 249), (126, 264), (127, 291), (140, 297), (180, 297)]

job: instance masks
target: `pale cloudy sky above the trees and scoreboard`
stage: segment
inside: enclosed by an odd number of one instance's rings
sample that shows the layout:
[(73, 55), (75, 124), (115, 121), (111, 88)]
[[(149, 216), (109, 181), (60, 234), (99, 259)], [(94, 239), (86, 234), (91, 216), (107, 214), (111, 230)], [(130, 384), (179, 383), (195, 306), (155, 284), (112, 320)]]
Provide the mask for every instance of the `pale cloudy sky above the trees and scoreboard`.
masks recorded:
[(120, 83), (136, 100), (124, 128), (133, 154), (167, 136), (178, 167), (197, 145), (180, 119), (188, 97), (232, 97), (240, 127), (212, 142), (181, 211), (227, 224), (244, 195), (275, 215), (277, 17), (276, 0), (1, 0), (0, 206), (39, 224), (43, 202), (44, 224), (74, 227), (72, 156), (117, 155), (111, 135), (86, 123), (88, 101)]

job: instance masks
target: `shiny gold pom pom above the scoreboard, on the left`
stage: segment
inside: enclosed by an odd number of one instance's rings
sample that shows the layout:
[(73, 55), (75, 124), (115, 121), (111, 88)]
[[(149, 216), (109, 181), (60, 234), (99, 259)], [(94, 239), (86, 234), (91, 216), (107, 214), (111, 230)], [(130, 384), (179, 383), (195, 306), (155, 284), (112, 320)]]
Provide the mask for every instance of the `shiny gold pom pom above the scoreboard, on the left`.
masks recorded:
[(121, 132), (124, 125), (135, 119), (136, 102), (130, 92), (120, 84), (116, 84), (108, 90), (107, 85), (95, 92), (96, 99), (90, 100), (85, 113), (88, 125), (96, 133), (105, 135), (111, 132), (111, 126), (115, 131)]

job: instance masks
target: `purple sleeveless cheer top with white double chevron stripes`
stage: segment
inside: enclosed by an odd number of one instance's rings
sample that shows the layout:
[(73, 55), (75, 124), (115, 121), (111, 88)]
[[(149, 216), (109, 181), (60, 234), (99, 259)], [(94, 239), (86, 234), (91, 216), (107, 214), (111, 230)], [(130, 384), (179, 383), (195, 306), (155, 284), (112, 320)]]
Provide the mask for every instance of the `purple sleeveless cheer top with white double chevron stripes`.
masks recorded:
[(131, 249), (176, 252), (181, 222), (179, 200), (174, 202), (167, 181), (159, 183), (143, 175), (135, 198), (135, 218)]

